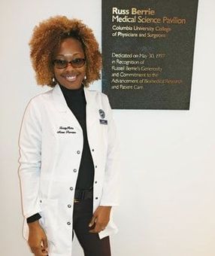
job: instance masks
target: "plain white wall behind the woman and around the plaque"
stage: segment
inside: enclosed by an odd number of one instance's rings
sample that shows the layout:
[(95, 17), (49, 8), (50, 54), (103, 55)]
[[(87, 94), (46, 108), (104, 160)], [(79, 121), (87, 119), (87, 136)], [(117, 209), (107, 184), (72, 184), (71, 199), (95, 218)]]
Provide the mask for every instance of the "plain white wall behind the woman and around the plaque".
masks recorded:
[[(215, 94), (213, 0), (199, 0), (190, 111), (114, 111), (122, 148), (120, 233), (113, 256), (214, 256)], [(42, 89), (29, 61), (39, 21), (77, 17), (101, 42), (101, 0), (1, 3), (1, 239), (2, 256), (27, 256), (21, 237), (17, 140), (26, 103)], [(93, 85), (101, 90), (101, 82)], [(74, 254), (83, 255), (75, 242)]]

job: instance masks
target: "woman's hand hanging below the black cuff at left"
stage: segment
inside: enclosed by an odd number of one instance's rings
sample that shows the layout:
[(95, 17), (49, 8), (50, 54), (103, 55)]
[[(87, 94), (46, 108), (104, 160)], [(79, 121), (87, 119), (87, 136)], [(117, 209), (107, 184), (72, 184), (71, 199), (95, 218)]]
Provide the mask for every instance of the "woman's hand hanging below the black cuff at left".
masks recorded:
[(29, 246), (35, 256), (47, 256), (47, 236), (39, 221), (29, 223)]

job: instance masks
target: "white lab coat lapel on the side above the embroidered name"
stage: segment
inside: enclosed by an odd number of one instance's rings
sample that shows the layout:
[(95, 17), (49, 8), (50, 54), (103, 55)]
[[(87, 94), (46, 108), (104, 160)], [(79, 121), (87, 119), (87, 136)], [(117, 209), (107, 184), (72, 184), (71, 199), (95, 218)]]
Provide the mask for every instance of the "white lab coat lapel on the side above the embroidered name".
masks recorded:
[(56, 87), (53, 88), (53, 102), (63, 118), (68, 120), (69, 123), (72, 123), (73, 126), (76, 126), (77, 129), (82, 130), (77, 118), (74, 116), (70, 108), (68, 108), (68, 105), (62, 94), (62, 90), (58, 84), (56, 84)]

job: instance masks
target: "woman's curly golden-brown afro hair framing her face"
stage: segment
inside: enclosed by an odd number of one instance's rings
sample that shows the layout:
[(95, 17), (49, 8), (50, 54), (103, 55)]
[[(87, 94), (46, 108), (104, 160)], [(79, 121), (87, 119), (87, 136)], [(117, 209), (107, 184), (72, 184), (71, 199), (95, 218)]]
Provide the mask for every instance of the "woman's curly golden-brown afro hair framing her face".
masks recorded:
[(100, 78), (101, 53), (98, 42), (81, 20), (69, 20), (65, 16), (50, 17), (35, 26), (32, 39), (29, 42), (32, 66), (36, 72), (38, 84), (55, 87), (53, 81), (53, 53), (65, 38), (76, 38), (83, 45), (86, 58), (86, 79), (84, 86)]

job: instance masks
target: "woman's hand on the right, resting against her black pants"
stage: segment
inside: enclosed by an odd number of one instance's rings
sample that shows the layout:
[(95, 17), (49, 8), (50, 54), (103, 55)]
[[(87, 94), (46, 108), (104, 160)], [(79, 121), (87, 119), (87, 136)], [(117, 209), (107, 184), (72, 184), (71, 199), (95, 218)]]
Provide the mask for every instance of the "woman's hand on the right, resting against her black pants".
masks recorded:
[(110, 220), (111, 206), (98, 206), (95, 210), (92, 220), (89, 223), (89, 227), (93, 225), (95, 227), (89, 230), (90, 233), (99, 233), (104, 230)]

